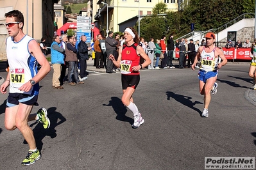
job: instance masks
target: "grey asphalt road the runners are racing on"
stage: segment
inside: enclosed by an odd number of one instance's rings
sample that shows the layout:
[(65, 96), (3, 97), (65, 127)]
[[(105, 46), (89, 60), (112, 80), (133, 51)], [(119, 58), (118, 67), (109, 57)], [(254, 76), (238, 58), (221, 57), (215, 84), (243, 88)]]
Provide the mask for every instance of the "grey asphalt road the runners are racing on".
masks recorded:
[(228, 63), (220, 70), (209, 118), (200, 117), (196, 71), (142, 70), (133, 95), (145, 119), (138, 129), (121, 103), (119, 73), (92, 72), (85, 84), (53, 89), (51, 71), (38, 100), (51, 127), (30, 122), (42, 153), (36, 164), (21, 166), (28, 145), (19, 130), (4, 129), (7, 95), (0, 95), (0, 169), (204, 169), (205, 157), (255, 157), (248, 67)]

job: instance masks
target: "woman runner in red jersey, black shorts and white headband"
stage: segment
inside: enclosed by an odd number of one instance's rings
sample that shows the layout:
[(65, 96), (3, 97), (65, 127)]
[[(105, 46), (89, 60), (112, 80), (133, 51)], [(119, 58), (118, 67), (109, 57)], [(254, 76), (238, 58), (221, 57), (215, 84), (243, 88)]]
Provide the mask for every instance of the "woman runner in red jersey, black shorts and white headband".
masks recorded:
[[(123, 86), (122, 102), (133, 112), (134, 123), (133, 128), (138, 128), (144, 123), (137, 106), (133, 103), (133, 93), (140, 81), (139, 70), (150, 65), (151, 60), (145, 53), (144, 49), (138, 45), (139, 36), (133, 27), (126, 27), (124, 30), (124, 40), (126, 42), (123, 47), (119, 48), (119, 56), (117, 61), (110, 54), (109, 59), (112, 59), (117, 68), (121, 68), (121, 80)], [(140, 56), (145, 62), (140, 64)]]

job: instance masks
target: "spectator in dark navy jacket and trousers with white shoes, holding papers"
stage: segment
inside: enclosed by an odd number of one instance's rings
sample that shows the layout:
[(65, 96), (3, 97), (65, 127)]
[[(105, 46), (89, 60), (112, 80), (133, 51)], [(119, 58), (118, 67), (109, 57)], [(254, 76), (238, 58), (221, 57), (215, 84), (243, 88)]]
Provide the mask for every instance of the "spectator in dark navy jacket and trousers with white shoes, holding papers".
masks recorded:
[(86, 75), (86, 69), (87, 69), (87, 60), (89, 59), (88, 52), (92, 47), (88, 47), (88, 45), (85, 43), (87, 40), (87, 37), (85, 35), (81, 36), (81, 42), (78, 43), (78, 59), (80, 62), (80, 77), (81, 80), (85, 81), (88, 79)]

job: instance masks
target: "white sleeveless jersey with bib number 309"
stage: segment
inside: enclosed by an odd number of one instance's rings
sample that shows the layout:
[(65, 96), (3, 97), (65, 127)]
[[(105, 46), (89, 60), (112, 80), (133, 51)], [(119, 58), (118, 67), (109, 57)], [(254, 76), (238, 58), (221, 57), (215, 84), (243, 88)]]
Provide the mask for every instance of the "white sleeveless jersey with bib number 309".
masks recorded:
[(216, 72), (218, 71), (218, 59), (219, 57), (215, 56), (214, 52), (216, 47), (211, 52), (206, 52), (205, 47), (203, 47), (203, 51), (201, 52), (200, 59), (200, 70), (206, 72)]

